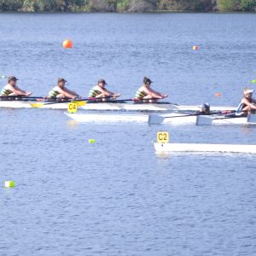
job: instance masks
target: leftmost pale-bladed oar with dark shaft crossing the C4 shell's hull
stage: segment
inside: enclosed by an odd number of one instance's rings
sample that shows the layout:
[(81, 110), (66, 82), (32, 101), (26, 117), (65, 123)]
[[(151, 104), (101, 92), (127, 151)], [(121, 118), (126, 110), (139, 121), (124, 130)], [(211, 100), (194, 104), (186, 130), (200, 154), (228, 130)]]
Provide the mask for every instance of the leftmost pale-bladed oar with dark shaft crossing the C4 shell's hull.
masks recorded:
[(182, 118), (182, 117), (189, 117), (189, 116), (204, 116), (206, 118), (208, 117), (207, 119), (209, 119), (209, 116), (212, 116), (213, 114), (220, 114), (220, 113), (222, 113), (222, 114), (236, 113), (236, 110), (214, 112), (214, 113), (210, 113), (208, 115), (206, 115), (204, 113), (191, 113), (191, 114), (183, 114), (183, 115), (176, 115), (176, 116), (162, 116), (162, 115), (157, 115), (157, 114), (149, 114), (148, 124), (149, 125), (160, 125), (161, 123), (163, 123), (163, 121), (165, 119), (175, 119), (175, 118)]

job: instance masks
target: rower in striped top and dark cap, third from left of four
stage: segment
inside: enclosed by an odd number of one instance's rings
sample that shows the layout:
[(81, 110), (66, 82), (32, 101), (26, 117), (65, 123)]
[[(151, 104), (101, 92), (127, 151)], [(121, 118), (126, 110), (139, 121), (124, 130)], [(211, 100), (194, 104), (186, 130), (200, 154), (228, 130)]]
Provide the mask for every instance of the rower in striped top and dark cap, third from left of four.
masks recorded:
[(89, 92), (89, 98), (96, 98), (97, 101), (106, 102), (107, 98), (116, 99), (121, 96), (119, 93), (114, 93), (106, 89), (106, 81), (104, 79), (100, 79), (98, 84), (91, 88)]

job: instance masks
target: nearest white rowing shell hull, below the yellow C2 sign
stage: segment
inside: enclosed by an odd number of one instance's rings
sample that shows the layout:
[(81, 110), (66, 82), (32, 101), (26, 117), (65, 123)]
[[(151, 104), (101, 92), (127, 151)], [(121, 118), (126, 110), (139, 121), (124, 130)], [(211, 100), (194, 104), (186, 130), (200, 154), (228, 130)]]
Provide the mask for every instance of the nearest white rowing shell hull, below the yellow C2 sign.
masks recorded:
[(154, 143), (157, 153), (170, 152), (215, 152), (256, 154), (256, 145), (200, 144), (200, 143)]

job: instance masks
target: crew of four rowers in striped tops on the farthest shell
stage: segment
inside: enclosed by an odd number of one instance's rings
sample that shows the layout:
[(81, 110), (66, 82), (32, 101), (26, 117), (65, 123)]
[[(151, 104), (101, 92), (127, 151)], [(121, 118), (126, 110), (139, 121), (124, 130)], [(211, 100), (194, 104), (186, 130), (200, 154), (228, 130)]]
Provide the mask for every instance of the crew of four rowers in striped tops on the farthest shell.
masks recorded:
[[(31, 96), (31, 91), (21, 90), (17, 86), (17, 80), (15, 77), (9, 77), (8, 84), (6, 84), (3, 89), (1, 90), (0, 96)], [(75, 98), (82, 98), (73, 90), (67, 89), (65, 84), (67, 81), (65, 79), (58, 79), (57, 84), (55, 87), (49, 91), (47, 99), (75, 99)], [(153, 90), (150, 85), (152, 81), (148, 78), (143, 79), (143, 86), (141, 86), (136, 93), (135, 101), (147, 101), (147, 102), (156, 102), (158, 99), (164, 99), (167, 95), (162, 94), (158, 91)], [(91, 88), (89, 92), (89, 98), (96, 98), (98, 101), (106, 101), (108, 98), (116, 99), (117, 97), (121, 96), (119, 93), (111, 92), (106, 88), (106, 81), (104, 79), (100, 79), (96, 86)]]

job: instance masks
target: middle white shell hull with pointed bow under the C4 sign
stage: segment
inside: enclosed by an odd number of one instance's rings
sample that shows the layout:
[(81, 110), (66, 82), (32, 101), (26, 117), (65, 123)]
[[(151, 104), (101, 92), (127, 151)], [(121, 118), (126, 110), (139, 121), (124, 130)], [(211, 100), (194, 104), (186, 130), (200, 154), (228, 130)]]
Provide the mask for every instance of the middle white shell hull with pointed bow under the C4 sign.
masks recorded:
[[(121, 113), (65, 113), (67, 116), (79, 123), (114, 123), (114, 122), (133, 122), (133, 123), (147, 123), (148, 114), (121, 114)], [(196, 124), (196, 116), (177, 117), (177, 113), (171, 114), (174, 118), (165, 119), (164, 123), (171, 125), (191, 125)], [(170, 114), (168, 115), (170, 116)], [(180, 114), (179, 114), (180, 116)], [(208, 118), (208, 117), (207, 117)], [(209, 119), (211, 119), (209, 117)], [(250, 122), (246, 117), (232, 118), (232, 119), (212, 119), (212, 125), (256, 125), (256, 122)]]

